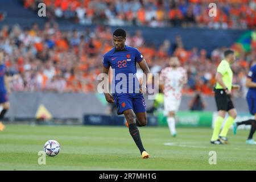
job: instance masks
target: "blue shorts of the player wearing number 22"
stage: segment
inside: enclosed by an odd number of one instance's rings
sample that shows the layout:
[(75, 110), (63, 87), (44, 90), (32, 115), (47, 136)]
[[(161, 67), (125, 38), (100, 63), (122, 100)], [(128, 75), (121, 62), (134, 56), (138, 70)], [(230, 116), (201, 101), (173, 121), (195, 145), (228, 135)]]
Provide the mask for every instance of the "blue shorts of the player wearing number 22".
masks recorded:
[(134, 113), (146, 112), (146, 104), (141, 93), (113, 94), (117, 114), (123, 114), (127, 109), (133, 109)]

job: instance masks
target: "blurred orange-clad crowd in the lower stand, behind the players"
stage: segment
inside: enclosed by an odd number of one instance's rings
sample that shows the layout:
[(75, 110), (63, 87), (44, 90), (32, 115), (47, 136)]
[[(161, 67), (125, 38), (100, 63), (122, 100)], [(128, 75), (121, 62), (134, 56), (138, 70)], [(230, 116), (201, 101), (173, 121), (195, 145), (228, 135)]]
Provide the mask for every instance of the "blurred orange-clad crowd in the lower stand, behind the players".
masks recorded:
[[(255, 45), (256, 40), (253, 43)], [(146, 46), (141, 31), (128, 35), (126, 44), (142, 52), (152, 73), (158, 73), (166, 67), (171, 55), (179, 57), (188, 71), (188, 84), (183, 92), (213, 94), (216, 67), (225, 47), (217, 48), (207, 56), (204, 49), (185, 49), (183, 40), (176, 36), (175, 42), (165, 40), (156, 49), (154, 46)], [(5, 52), (11, 89), (15, 91), (96, 92), (102, 55), (111, 48), (112, 31), (105, 26), (78, 32), (60, 31), (56, 23), (46, 23), (40, 30), (35, 23), (24, 30), (18, 25), (3, 26), (0, 30), (0, 50)], [(250, 53), (240, 52), (240, 58), (233, 65), (234, 82), (242, 86), (236, 94), (245, 93), (246, 73), (254, 58), (255, 47)]]

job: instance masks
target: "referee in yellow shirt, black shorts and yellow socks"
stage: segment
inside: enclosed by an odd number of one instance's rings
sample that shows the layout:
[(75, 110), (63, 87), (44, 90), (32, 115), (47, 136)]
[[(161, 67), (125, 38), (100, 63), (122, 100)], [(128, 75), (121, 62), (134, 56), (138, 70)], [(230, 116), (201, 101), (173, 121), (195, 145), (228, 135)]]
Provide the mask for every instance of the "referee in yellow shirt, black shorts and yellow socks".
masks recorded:
[[(210, 143), (212, 144), (223, 144), (228, 143), (229, 127), (233, 124), (234, 119), (237, 117), (237, 111), (234, 109), (233, 102), (230, 98), (232, 89), (239, 89), (239, 85), (232, 85), (233, 72), (230, 65), (236, 60), (236, 56), (233, 50), (226, 50), (224, 52), (225, 59), (221, 61), (218, 65), (216, 73), (216, 86), (214, 89), (215, 100), (218, 110), (218, 117), (216, 118), (212, 138)], [(229, 117), (226, 119), (225, 125), (221, 130), (222, 122), (224, 121), (226, 112), (228, 112)], [(220, 133), (221, 130), (221, 133)]]

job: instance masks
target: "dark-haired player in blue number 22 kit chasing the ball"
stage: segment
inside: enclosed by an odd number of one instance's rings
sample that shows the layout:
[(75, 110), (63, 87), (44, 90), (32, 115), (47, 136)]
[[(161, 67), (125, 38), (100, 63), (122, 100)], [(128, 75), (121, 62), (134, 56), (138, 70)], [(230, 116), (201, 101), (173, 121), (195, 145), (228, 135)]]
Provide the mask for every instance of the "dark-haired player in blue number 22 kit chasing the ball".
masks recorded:
[(137, 144), (142, 158), (147, 159), (149, 155), (143, 147), (137, 127), (147, 125), (146, 105), (143, 98), (143, 93), (147, 90), (147, 80), (144, 79), (143, 84), (139, 84), (135, 74), (137, 63), (145, 75), (150, 69), (141, 52), (137, 48), (126, 46), (125, 40), (125, 30), (118, 28), (113, 32), (114, 48), (105, 53), (102, 60), (103, 73), (108, 74), (110, 67), (113, 69), (112, 94), (109, 92), (104, 94), (106, 101), (115, 104), (117, 113), (125, 115), (130, 135)]

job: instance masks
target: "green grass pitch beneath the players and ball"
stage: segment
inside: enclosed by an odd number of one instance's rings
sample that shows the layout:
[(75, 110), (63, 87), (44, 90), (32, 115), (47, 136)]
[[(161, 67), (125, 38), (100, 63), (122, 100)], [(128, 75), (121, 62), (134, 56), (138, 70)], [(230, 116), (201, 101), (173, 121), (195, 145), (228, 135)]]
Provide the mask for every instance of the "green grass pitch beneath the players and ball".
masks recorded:
[[(249, 131), (229, 131), (229, 145), (209, 143), (211, 129), (139, 128), (150, 159), (141, 159), (126, 127), (6, 125), (0, 132), (0, 170), (255, 170), (256, 146), (245, 144)], [(61, 145), (59, 155), (38, 164), (38, 152), (49, 139)], [(164, 145), (169, 143), (170, 145)], [(217, 164), (209, 164), (216, 151)]]

